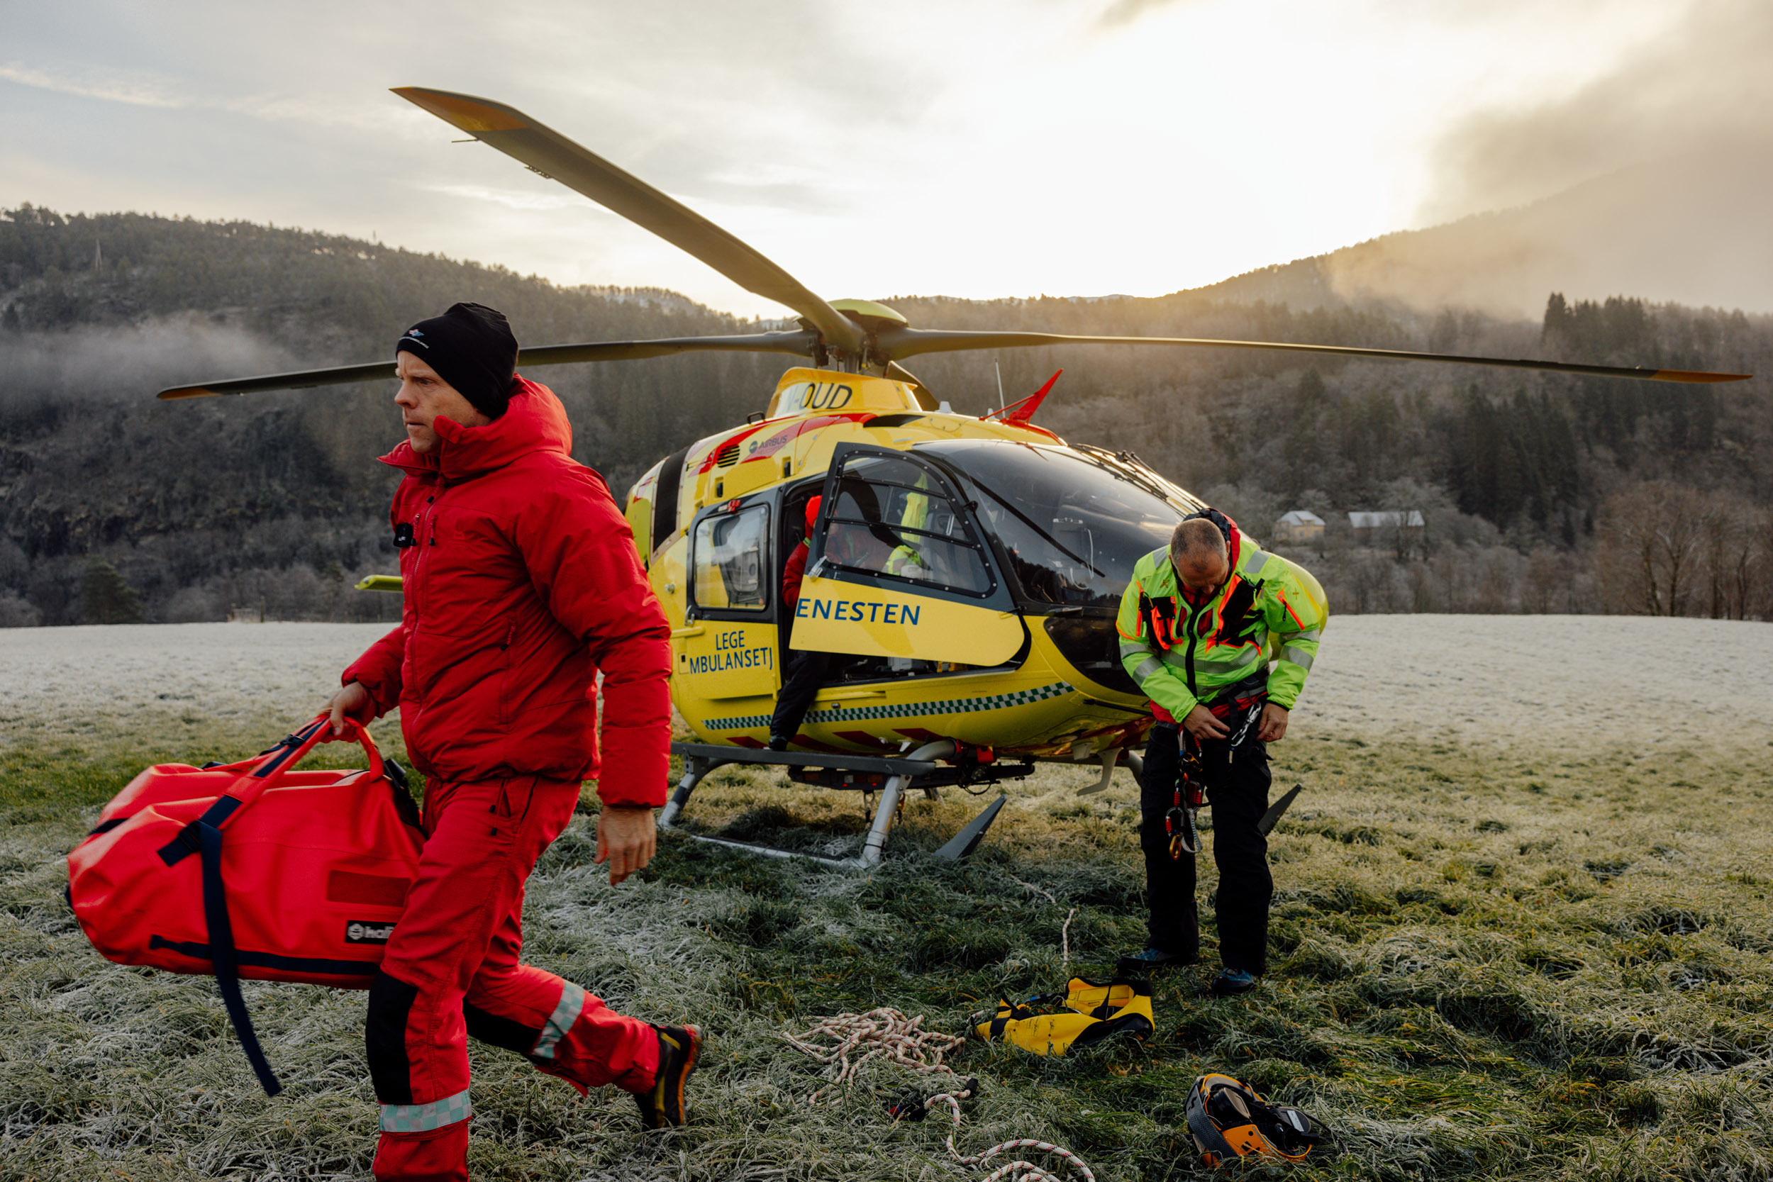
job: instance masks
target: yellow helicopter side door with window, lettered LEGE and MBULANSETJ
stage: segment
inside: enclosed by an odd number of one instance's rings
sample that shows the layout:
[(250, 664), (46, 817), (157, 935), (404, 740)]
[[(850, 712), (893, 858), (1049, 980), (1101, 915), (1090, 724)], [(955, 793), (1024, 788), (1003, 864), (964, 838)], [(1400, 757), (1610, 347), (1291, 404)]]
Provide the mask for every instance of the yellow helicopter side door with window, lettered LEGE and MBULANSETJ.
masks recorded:
[(722, 502), (690, 523), (690, 610), (672, 631), (676, 675), (699, 698), (775, 693), (769, 500)]

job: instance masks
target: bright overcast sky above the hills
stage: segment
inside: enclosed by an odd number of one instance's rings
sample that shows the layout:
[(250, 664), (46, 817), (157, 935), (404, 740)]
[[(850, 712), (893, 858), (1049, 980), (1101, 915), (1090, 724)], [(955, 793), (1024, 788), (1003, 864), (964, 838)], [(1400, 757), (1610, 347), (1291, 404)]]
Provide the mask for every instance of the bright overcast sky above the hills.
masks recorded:
[(388, 94), (511, 103), (826, 298), (1161, 294), (1766, 147), (1768, 0), (0, 0), (0, 206), (780, 315)]

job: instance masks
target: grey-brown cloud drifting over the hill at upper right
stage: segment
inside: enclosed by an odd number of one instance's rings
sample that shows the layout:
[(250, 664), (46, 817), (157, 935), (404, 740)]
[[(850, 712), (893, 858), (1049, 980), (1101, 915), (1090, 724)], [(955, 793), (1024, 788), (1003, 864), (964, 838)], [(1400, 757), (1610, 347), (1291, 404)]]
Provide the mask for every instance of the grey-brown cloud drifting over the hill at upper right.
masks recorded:
[(1773, 5), (1697, 0), (1562, 96), (1433, 149), (1431, 229), (1324, 259), (1344, 298), (1535, 315), (1548, 292), (1773, 310)]

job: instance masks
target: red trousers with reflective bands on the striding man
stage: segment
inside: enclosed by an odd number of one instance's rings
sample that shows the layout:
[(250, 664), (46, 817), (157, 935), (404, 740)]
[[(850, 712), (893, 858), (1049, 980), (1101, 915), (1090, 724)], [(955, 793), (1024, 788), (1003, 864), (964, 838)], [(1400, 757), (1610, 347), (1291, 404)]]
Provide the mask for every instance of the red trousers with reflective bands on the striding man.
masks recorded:
[(518, 962), (523, 884), (576, 805), (578, 783), (534, 776), (426, 787), (426, 852), (369, 991), (376, 1178), (466, 1182), (468, 1035), (580, 1092), (652, 1086), (652, 1026)]

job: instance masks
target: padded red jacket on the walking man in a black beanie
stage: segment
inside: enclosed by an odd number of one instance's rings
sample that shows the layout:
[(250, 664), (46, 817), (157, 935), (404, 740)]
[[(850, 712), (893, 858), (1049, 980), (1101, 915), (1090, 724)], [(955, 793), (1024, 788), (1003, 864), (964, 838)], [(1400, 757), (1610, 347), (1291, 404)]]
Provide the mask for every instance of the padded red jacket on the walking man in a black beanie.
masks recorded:
[[(388, 455), (406, 583), (401, 626), (344, 672), (401, 707), (413, 764), (441, 780), (598, 778), (606, 805), (663, 805), (670, 629), (633, 532), (546, 386), (518, 377), (484, 427)], [(603, 670), (603, 758), (596, 677)]]

